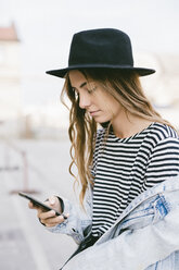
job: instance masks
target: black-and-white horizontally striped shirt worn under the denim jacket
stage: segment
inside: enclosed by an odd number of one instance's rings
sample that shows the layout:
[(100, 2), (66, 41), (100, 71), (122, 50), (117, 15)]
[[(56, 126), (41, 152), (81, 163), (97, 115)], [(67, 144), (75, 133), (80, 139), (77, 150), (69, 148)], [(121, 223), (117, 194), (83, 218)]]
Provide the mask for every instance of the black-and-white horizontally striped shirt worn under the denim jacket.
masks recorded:
[(140, 193), (179, 174), (179, 137), (153, 123), (128, 138), (99, 130), (93, 156), (92, 234), (103, 234)]

